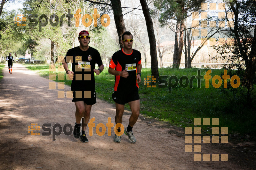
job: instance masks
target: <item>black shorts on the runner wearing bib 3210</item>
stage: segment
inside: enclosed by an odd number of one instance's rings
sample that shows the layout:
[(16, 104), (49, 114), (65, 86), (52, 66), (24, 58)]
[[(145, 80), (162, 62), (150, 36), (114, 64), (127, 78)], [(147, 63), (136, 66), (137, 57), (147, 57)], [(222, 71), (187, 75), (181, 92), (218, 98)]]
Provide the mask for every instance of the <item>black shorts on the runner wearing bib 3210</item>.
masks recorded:
[(114, 91), (112, 94), (112, 99), (116, 103), (124, 105), (125, 103), (128, 103), (130, 101), (139, 100), (140, 99), (139, 90), (138, 88), (135, 88), (134, 90), (128, 91), (128, 92)]

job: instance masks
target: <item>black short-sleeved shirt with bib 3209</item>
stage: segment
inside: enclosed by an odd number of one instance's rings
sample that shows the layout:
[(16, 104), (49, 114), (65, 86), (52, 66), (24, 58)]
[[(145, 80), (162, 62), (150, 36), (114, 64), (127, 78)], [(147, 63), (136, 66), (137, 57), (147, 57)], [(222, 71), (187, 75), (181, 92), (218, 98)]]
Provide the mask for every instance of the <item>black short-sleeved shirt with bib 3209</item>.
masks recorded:
[(89, 47), (82, 51), (79, 46), (68, 50), (65, 56), (67, 63), (72, 63), (74, 80), (71, 83), (72, 91), (92, 91), (95, 89), (94, 72), (95, 63), (102, 65), (100, 53), (95, 48)]

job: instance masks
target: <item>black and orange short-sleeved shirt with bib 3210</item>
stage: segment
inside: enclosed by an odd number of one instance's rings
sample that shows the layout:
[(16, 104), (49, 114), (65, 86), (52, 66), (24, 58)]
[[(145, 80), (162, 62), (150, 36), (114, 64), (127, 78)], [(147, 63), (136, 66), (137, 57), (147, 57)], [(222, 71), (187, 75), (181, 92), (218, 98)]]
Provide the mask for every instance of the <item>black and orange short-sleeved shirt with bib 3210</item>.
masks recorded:
[(115, 76), (114, 91), (127, 92), (139, 88), (137, 83), (137, 65), (141, 64), (140, 51), (132, 49), (131, 54), (125, 54), (123, 49), (113, 54), (109, 63), (109, 67), (116, 68), (116, 71), (127, 70), (129, 76), (127, 78)]

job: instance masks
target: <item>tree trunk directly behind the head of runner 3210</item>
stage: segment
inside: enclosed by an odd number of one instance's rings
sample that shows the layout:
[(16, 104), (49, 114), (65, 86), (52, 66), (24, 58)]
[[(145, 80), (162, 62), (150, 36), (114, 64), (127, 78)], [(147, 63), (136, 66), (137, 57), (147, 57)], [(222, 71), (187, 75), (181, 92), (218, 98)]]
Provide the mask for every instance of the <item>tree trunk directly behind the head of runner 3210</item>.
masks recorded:
[(124, 18), (122, 13), (121, 1), (120, 0), (110, 0), (112, 4), (112, 9), (114, 13), (114, 20), (116, 23), (116, 30), (119, 38), (120, 48), (124, 48), (122, 44), (122, 34), (126, 31), (124, 25)]

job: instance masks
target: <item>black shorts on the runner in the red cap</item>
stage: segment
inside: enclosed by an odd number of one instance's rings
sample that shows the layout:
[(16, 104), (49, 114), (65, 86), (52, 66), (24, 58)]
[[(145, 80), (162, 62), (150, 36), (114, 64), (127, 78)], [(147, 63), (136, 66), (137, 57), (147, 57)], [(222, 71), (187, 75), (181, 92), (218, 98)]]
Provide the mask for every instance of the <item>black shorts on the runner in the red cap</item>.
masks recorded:
[[(72, 89), (71, 89), (72, 90)], [(72, 90), (73, 91), (73, 90)], [(84, 101), (87, 105), (93, 105), (96, 103), (96, 92), (92, 90), (91, 92), (84, 92), (84, 91), (73, 91), (73, 100), (75, 101)]]

